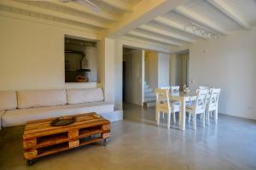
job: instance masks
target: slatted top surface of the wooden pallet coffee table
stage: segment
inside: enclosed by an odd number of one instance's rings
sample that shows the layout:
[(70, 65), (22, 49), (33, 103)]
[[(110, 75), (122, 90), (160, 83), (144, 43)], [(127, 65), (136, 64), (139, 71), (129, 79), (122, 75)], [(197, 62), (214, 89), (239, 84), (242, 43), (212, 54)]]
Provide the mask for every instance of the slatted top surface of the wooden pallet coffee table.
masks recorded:
[(81, 127), (92, 127), (102, 124), (109, 124), (110, 122), (97, 115), (96, 113), (86, 113), (74, 115), (76, 117), (76, 122), (67, 126), (54, 127), (50, 125), (50, 122), (55, 120), (55, 118), (42, 119), (38, 121), (26, 122), (23, 139), (30, 139), (34, 137), (48, 135), (50, 133), (61, 133), (67, 132), (71, 129), (81, 128)]

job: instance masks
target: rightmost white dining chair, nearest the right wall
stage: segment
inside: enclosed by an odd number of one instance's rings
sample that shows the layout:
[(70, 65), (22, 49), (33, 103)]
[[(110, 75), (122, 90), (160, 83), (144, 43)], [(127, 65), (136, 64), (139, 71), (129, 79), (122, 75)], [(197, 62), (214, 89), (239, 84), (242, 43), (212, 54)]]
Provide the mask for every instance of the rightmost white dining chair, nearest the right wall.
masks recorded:
[(214, 114), (214, 122), (218, 120), (218, 97), (220, 94), (220, 88), (211, 88), (209, 93), (209, 99), (207, 102), (207, 124), (210, 123), (211, 113)]

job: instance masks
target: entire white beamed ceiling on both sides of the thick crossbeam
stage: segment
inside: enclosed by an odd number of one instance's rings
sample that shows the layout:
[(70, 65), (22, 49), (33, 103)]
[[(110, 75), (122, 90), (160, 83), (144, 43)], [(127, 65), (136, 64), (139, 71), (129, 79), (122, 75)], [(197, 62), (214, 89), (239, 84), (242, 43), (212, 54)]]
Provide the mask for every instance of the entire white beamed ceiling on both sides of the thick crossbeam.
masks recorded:
[[(142, 7), (139, 6), (142, 3), (150, 6), (157, 1), (164, 2), (164, 0), (90, 1), (101, 8), (101, 13), (97, 14), (78, 3), (1, 0), (0, 14), (24, 15), (101, 33), (113, 29), (113, 26), (119, 23), (125, 23), (126, 16), (129, 18), (135, 10), (139, 11), (140, 8), (137, 7)], [(154, 14), (152, 18), (150, 18), (152, 14), (148, 14), (150, 20), (140, 21), (137, 26), (131, 26), (130, 30), (126, 28), (121, 36), (163, 46), (182, 46), (202, 38), (191, 30), (184, 30), (185, 26), (192, 23), (204, 27), (207, 31), (218, 33), (219, 36), (230, 35), (241, 29), (249, 31), (256, 26), (255, 0), (183, 0), (180, 2), (179, 6), (166, 10), (165, 14)]]

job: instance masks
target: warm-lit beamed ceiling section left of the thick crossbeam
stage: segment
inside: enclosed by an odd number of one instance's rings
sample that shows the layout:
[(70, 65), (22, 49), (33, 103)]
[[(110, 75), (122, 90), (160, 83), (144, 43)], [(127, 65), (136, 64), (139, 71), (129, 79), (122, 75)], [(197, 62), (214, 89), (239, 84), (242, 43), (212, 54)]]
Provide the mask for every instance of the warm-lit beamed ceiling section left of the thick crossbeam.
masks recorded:
[(101, 8), (101, 13), (97, 14), (79, 3), (61, 3), (56, 0), (1, 0), (0, 11), (102, 31), (118, 22), (121, 15), (131, 13), (132, 8), (140, 2), (137, 0), (131, 0), (131, 3), (128, 3), (130, 0), (90, 1)]

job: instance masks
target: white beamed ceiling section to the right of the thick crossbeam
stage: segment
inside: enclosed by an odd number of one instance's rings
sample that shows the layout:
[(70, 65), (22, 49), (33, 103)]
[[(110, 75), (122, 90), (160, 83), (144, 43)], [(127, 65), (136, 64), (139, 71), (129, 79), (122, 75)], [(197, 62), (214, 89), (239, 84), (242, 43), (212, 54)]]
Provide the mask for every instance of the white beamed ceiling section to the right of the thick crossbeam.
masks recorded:
[(224, 36), (241, 29), (250, 30), (256, 26), (255, 21), (254, 0), (191, 0), (139, 26), (142, 29), (127, 32), (125, 37), (132, 35), (155, 42), (156, 39), (150, 37), (154, 35), (163, 38), (160, 43), (177, 45), (176, 42), (184, 44), (201, 38), (193, 32), (184, 31), (184, 27), (191, 23)]

